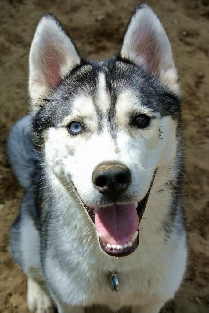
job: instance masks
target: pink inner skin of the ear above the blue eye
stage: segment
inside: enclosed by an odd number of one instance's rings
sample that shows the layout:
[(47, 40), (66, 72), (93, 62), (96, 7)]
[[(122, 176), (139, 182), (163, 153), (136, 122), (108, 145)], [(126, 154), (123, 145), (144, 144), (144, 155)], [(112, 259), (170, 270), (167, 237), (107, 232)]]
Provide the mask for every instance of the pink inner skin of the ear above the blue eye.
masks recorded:
[(42, 62), (47, 85), (56, 87), (61, 81), (60, 65), (62, 63), (62, 56), (50, 43), (45, 44)]

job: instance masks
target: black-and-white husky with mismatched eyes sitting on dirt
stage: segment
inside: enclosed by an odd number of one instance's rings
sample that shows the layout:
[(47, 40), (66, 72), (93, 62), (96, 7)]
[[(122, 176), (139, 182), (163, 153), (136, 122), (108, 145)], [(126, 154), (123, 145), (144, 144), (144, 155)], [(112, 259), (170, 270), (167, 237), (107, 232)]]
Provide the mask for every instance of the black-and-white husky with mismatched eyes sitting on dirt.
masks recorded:
[(187, 259), (180, 91), (165, 30), (139, 5), (118, 55), (87, 61), (46, 14), (29, 66), (31, 112), (7, 144), (26, 190), (10, 251), (29, 309), (159, 312)]

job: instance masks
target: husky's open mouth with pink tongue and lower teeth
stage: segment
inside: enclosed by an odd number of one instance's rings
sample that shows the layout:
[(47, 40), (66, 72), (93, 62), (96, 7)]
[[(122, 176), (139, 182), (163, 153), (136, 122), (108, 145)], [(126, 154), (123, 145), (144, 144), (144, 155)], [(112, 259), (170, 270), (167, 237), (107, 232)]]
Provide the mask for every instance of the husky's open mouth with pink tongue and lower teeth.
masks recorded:
[(126, 256), (139, 244), (139, 223), (149, 192), (139, 203), (112, 204), (94, 208), (84, 205), (98, 232), (101, 248), (112, 256)]

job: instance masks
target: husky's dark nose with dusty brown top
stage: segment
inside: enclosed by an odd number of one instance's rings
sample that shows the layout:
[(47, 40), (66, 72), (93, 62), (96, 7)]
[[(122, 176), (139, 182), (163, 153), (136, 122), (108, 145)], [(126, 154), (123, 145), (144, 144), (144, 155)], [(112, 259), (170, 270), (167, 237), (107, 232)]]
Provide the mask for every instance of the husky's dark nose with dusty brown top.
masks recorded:
[(95, 168), (92, 181), (99, 192), (114, 201), (126, 191), (131, 181), (131, 172), (120, 163), (102, 163)]

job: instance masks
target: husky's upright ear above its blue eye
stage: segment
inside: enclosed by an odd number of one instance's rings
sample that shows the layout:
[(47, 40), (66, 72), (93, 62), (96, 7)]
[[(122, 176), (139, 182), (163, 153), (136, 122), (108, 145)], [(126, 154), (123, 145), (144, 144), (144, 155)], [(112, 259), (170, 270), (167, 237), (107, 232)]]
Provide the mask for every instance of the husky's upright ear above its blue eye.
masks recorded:
[(29, 94), (33, 111), (37, 103), (78, 65), (81, 58), (70, 37), (57, 19), (45, 14), (39, 21), (29, 56)]

